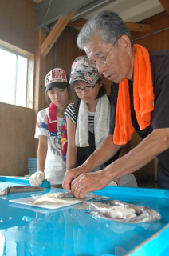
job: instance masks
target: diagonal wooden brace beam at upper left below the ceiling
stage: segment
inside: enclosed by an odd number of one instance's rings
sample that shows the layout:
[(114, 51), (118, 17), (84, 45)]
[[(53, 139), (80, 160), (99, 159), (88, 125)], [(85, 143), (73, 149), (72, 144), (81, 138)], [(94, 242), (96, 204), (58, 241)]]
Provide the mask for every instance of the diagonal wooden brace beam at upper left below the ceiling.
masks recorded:
[(69, 20), (73, 17), (73, 14), (75, 12), (76, 10), (58, 19), (57, 23), (53, 27), (53, 30), (49, 33), (48, 37), (45, 39), (45, 42), (41, 46), (41, 56), (45, 57), (49, 53), (49, 50), (52, 48), (53, 44), (57, 41), (57, 38), (60, 36), (61, 32), (65, 29), (65, 26), (68, 24)]

